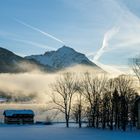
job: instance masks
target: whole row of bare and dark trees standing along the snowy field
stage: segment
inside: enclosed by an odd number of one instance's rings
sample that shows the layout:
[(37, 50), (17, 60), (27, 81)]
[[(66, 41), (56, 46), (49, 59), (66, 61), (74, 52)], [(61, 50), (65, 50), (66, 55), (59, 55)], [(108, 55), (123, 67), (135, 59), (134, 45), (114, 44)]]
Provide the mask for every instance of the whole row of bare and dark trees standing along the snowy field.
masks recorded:
[(126, 130), (136, 127), (138, 93), (131, 76), (108, 78), (105, 74), (64, 73), (52, 84), (55, 109), (65, 116), (66, 127), (75, 120), (79, 127)]

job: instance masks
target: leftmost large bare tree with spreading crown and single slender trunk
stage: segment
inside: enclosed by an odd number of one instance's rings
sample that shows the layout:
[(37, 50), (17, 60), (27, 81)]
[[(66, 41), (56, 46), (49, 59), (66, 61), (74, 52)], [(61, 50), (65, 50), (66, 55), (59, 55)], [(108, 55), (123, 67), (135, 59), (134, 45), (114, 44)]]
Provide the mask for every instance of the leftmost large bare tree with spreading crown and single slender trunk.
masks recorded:
[(56, 109), (65, 115), (66, 127), (69, 127), (72, 97), (77, 91), (76, 77), (71, 73), (64, 73), (52, 85), (52, 101)]

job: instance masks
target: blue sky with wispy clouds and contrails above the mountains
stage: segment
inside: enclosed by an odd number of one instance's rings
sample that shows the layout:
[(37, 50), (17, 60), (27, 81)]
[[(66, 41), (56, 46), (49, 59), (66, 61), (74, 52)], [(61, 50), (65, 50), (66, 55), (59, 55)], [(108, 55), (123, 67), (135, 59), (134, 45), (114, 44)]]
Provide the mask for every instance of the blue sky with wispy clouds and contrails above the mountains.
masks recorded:
[(0, 46), (18, 55), (63, 45), (124, 66), (140, 52), (140, 0), (0, 0)]

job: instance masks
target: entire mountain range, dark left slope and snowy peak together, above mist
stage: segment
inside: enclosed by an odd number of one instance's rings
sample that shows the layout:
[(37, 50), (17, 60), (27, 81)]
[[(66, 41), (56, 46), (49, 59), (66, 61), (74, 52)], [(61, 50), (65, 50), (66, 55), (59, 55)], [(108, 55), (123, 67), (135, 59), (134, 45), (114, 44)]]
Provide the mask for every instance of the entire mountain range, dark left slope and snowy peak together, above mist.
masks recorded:
[(0, 47), (0, 73), (30, 72), (34, 70), (55, 72), (76, 65), (86, 65), (102, 70), (84, 54), (67, 46), (63, 46), (56, 51), (24, 58)]

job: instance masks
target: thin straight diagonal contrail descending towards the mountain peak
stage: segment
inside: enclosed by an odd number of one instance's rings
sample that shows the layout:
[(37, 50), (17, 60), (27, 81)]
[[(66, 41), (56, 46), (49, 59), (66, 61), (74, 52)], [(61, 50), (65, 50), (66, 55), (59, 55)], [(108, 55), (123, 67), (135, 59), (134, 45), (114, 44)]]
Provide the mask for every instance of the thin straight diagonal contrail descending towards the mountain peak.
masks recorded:
[(49, 34), (49, 33), (46, 33), (46, 32), (44, 32), (44, 31), (42, 31), (42, 30), (40, 30), (40, 29), (38, 29), (38, 28), (36, 28), (36, 27), (34, 27), (34, 26), (31, 26), (31, 25), (29, 25), (29, 24), (27, 24), (27, 23), (21, 21), (21, 20), (18, 20), (18, 19), (15, 19), (15, 20), (16, 20), (18, 23), (20, 23), (20, 24), (22, 24), (22, 25), (24, 25), (24, 26), (26, 26), (26, 27), (28, 27), (28, 28), (31, 28), (31, 29), (33, 29), (33, 30), (35, 30), (35, 31), (38, 31), (38, 32), (40, 32), (41, 34), (43, 34), (43, 35), (45, 35), (45, 36), (47, 36), (47, 37), (50, 37), (50, 38), (52, 38), (52, 39), (54, 39), (54, 40), (56, 40), (56, 41), (62, 43), (63, 45), (65, 44), (64, 41), (62, 41), (62, 40), (60, 40), (60, 39), (54, 37), (53, 35), (51, 35), (51, 34)]

